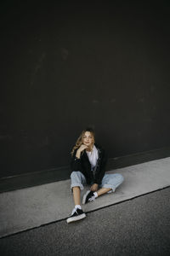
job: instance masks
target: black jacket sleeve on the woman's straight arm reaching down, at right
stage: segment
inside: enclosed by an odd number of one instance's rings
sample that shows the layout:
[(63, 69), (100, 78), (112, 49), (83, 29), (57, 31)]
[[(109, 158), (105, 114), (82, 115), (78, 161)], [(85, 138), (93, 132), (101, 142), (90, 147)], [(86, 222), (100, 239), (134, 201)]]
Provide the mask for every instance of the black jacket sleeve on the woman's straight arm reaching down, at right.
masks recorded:
[(102, 181), (102, 178), (105, 175), (105, 166), (107, 163), (107, 156), (105, 154), (105, 151), (102, 150), (102, 154), (99, 156), (99, 163), (98, 166), (96, 168), (96, 174), (95, 174), (95, 178), (94, 178), (94, 183), (100, 184)]

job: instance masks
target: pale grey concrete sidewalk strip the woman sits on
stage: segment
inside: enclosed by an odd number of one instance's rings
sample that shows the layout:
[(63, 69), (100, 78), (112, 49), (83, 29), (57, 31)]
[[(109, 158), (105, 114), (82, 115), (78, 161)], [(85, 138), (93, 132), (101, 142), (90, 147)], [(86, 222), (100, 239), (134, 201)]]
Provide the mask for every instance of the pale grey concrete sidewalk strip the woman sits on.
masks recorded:
[[(170, 185), (170, 158), (128, 166), (116, 193), (99, 197), (83, 207), (85, 212), (126, 201)], [(85, 191), (82, 193), (82, 195)], [(0, 237), (67, 218), (73, 207), (70, 180), (0, 194)]]

